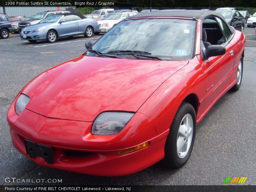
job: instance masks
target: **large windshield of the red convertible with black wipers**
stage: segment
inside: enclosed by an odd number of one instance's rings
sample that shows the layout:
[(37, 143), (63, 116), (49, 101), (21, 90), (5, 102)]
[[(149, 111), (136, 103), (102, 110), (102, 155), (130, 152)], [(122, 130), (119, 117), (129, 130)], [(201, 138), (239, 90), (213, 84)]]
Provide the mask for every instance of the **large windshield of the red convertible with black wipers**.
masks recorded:
[[(189, 60), (194, 52), (195, 28), (195, 20), (124, 20), (102, 36), (86, 55)], [(96, 54), (95, 50), (102, 55)]]

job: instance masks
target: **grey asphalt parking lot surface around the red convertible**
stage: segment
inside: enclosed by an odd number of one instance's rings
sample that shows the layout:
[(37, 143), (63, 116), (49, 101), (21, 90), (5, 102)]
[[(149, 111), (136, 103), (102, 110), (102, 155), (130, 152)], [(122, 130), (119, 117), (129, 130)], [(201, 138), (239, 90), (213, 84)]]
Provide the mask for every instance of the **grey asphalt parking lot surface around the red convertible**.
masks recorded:
[[(76, 36), (49, 44), (21, 41), (18, 34), (0, 39), (0, 185), (222, 185), (225, 177), (248, 177), (244, 185), (256, 185), (256, 37), (245, 27), (243, 80), (238, 92), (228, 92), (198, 124), (188, 163), (167, 170), (157, 163), (122, 177), (96, 177), (42, 167), (20, 154), (11, 142), (7, 110), (33, 77), (85, 51), (85, 38)], [(145, 159), (146, 161), (146, 159)], [(139, 163), (139, 162), (138, 162)], [(5, 182), (5, 178), (62, 179), (62, 183)]]

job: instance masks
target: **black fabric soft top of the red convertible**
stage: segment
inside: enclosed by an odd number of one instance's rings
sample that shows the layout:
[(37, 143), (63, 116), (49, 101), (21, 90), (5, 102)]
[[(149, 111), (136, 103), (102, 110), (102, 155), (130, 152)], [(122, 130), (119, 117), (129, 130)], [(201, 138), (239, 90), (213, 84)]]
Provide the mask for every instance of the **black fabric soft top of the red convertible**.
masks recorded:
[[(224, 22), (226, 20), (224, 19), (223, 15), (221, 13), (215, 12), (215, 11), (206, 11), (206, 10), (162, 10), (162, 11), (153, 11), (153, 12), (145, 12), (145, 13), (139, 13), (137, 15), (133, 15), (130, 18), (142, 18), (142, 17), (187, 17), (187, 18), (197, 18), (200, 20), (204, 20), (208, 16), (218, 16), (220, 17)], [(228, 23), (227, 23), (228, 25)], [(230, 25), (228, 25), (231, 32), (234, 32), (234, 28), (232, 28)]]

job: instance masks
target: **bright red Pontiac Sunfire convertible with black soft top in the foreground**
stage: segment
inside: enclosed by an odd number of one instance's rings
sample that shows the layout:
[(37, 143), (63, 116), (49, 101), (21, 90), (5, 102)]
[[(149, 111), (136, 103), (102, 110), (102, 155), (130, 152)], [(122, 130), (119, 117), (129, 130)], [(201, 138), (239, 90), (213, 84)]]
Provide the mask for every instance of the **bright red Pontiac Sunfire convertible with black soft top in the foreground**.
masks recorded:
[(12, 143), (37, 164), (101, 176), (179, 168), (196, 124), (242, 81), (244, 34), (214, 11), (141, 13), (85, 46), (10, 106)]

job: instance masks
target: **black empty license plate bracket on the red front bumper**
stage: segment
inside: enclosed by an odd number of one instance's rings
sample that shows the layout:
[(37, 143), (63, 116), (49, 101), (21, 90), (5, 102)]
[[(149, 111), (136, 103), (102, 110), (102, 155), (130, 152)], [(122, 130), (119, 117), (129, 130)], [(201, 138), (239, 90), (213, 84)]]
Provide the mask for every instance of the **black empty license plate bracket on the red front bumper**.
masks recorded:
[(46, 146), (46, 145), (41, 145), (37, 144), (33, 141), (29, 141), (24, 139), (25, 141), (25, 146), (26, 146), (26, 151), (27, 154), (31, 158), (35, 158), (36, 156), (43, 157), (46, 163), (53, 164), (54, 163), (54, 158), (53, 158), (53, 153), (52, 153), (52, 147)]

